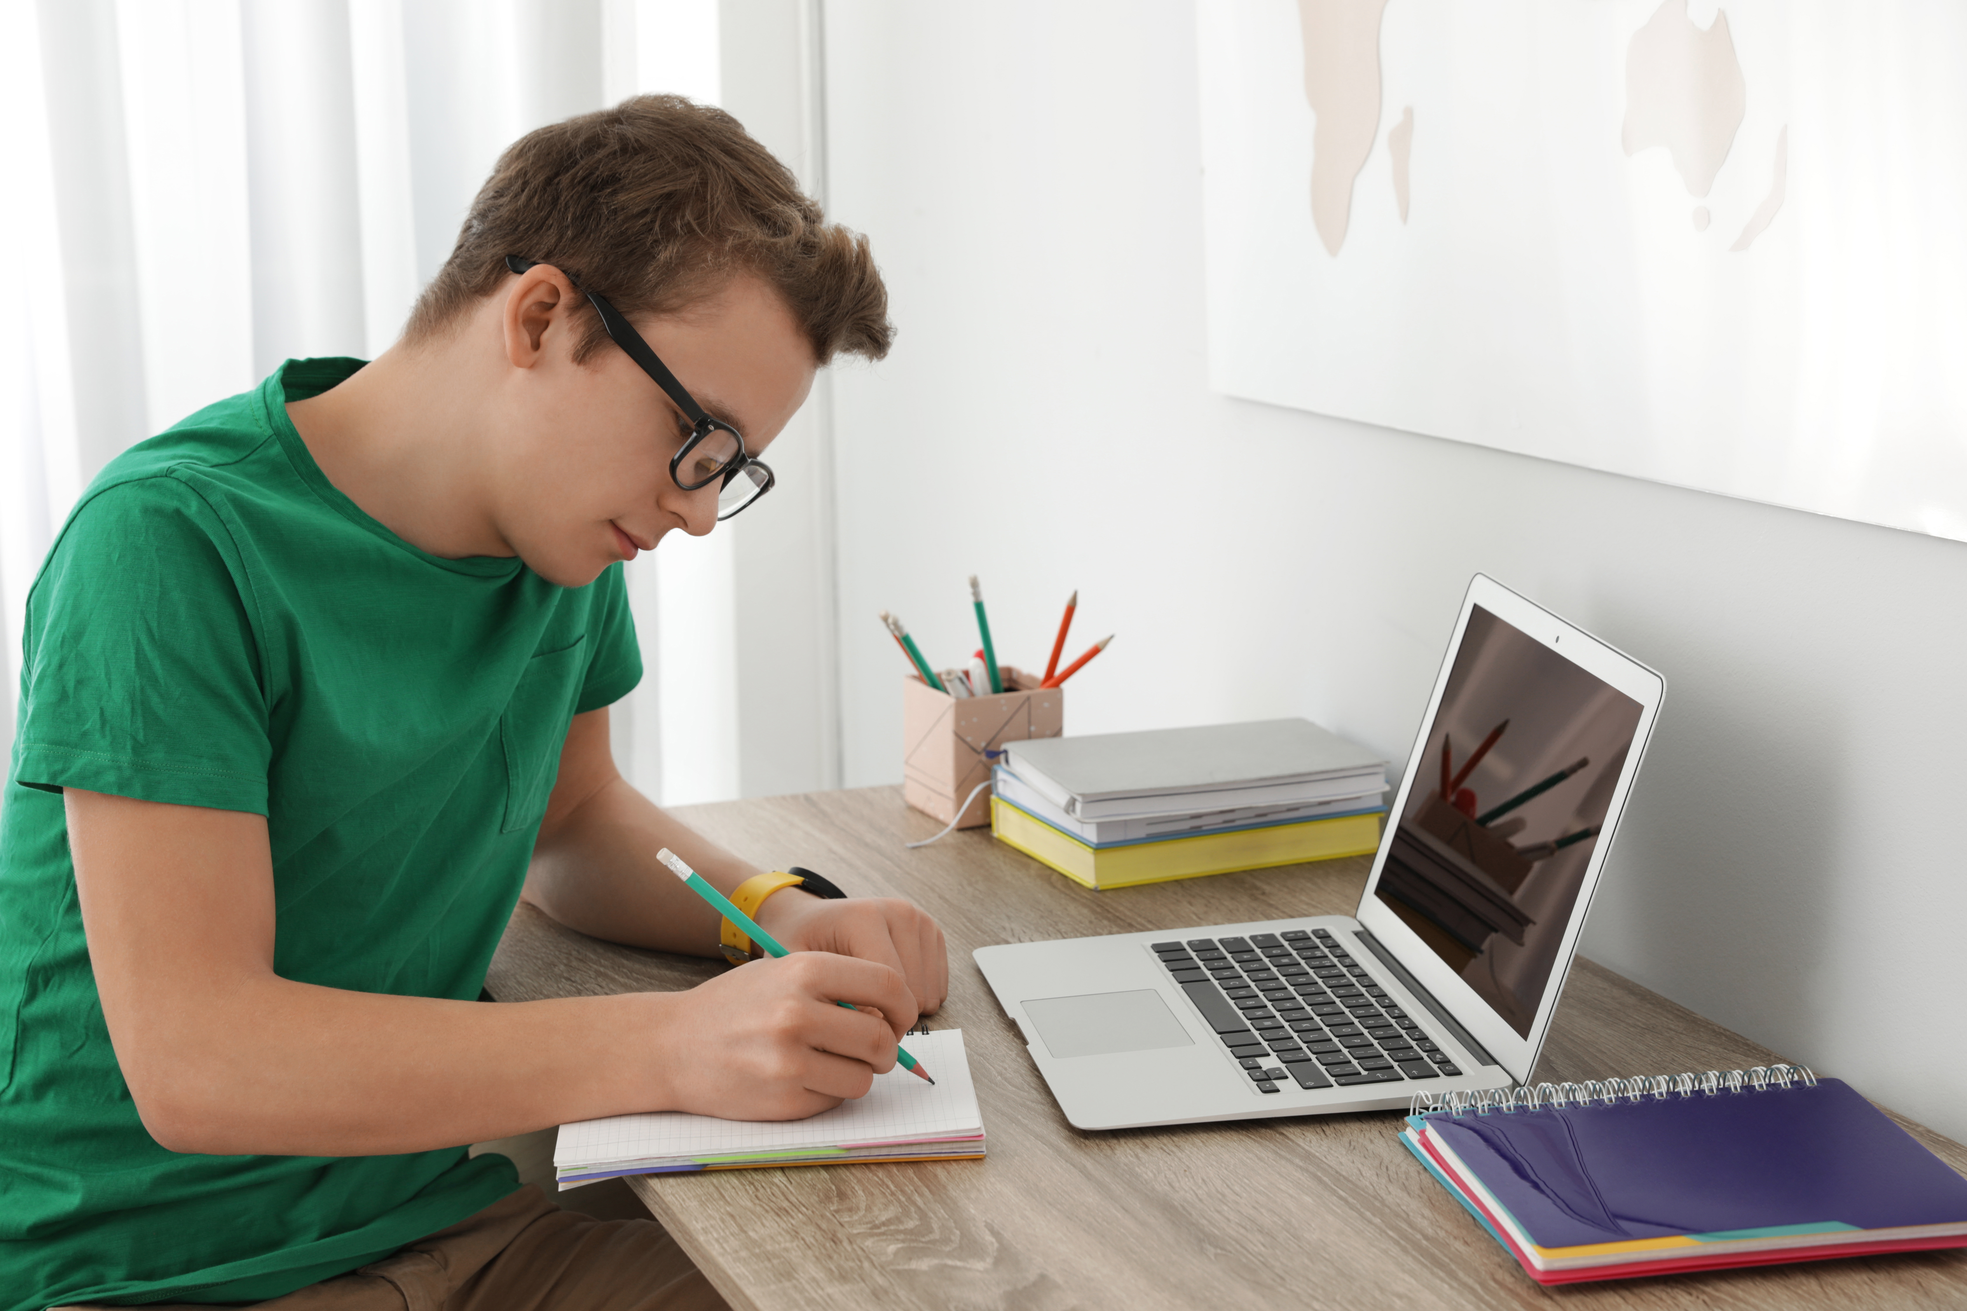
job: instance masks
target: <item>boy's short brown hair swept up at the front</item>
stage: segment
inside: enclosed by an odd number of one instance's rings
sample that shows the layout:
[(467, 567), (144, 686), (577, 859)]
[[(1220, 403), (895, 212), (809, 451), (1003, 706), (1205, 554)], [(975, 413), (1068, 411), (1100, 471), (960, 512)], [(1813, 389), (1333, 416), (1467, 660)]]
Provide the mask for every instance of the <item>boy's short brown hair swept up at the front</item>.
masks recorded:
[[(683, 96), (633, 96), (513, 142), (403, 340), (441, 334), (492, 295), (509, 277), (506, 256), (551, 263), (629, 318), (677, 313), (755, 273), (818, 364), (840, 352), (879, 360), (895, 336), (867, 238), (826, 222), (736, 118)], [(600, 314), (586, 314), (578, 362), (608, 342)]]

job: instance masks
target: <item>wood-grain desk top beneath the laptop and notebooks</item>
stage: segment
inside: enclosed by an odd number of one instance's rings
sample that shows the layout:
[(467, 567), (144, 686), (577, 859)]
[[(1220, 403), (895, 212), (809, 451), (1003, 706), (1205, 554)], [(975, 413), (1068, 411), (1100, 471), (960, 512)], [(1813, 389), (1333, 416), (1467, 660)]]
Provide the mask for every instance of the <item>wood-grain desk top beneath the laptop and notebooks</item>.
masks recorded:
[[(989, 1158), (643, 1175), (635, 1191), (734, 1307), (1967, 1307), (1967, 1254), (1928, 1252), (1568, 1289), (1532, 1283), (1399, 1146), (1399, 1114), (1082, 1134), (1066, 1124), (970, 951), (1282, 914), (1351, 914), (1365, 859), (1090, 892), (993, 841), (901, 843), (938, 826), (899, 788), (679, 814), (765, 865), (909, 896), (950, 940)], [(500, 1000), (690, 987), (720, 963), (582, 938), (519, 906)], [(1538, 1079), (1770, 1063), (1778, 1054), (1578, 961)], [(1900, 1120), (1953, 1168), (1967, 1148)]]

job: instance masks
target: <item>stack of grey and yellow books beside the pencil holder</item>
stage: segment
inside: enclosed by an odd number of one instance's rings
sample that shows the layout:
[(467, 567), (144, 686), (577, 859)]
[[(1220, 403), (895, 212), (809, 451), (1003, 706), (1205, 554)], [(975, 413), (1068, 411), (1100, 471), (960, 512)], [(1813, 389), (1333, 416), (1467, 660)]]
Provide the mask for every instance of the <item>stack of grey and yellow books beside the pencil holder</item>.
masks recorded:
[(1379, 847), (1387, 763), (1310, 719), (1007, 743), (991, 831), (1090, 888)]

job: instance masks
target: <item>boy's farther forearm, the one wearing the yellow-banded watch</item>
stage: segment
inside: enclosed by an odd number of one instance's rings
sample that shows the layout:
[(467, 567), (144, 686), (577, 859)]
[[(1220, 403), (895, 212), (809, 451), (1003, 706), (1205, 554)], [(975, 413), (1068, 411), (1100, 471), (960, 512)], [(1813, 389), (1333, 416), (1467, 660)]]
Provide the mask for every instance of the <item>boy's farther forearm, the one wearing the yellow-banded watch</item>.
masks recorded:
[(718, 912), (663, 869), (663, 847), (724, 892), (759, 873), (616, 776), (541, 833), (525, 900), (592, 938), (714, 955)]

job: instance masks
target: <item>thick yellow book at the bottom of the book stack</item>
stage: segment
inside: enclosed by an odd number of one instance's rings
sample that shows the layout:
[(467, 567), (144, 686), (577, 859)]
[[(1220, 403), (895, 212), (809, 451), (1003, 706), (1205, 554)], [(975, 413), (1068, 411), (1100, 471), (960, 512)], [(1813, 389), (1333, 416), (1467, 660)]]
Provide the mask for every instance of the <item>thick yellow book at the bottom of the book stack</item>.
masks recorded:
[(989, 829), (999, 841), (1090, 888), (1125, 888), (1137, 883), (1200, 879), (1267, 865), (1371, 855), (1379, 849), (1379, 818), (1381, 812), (1375, 810), (1261, 829), (1088, 847), (1044, 820), (1035, 820), (1001, 798), (989, 798)]

